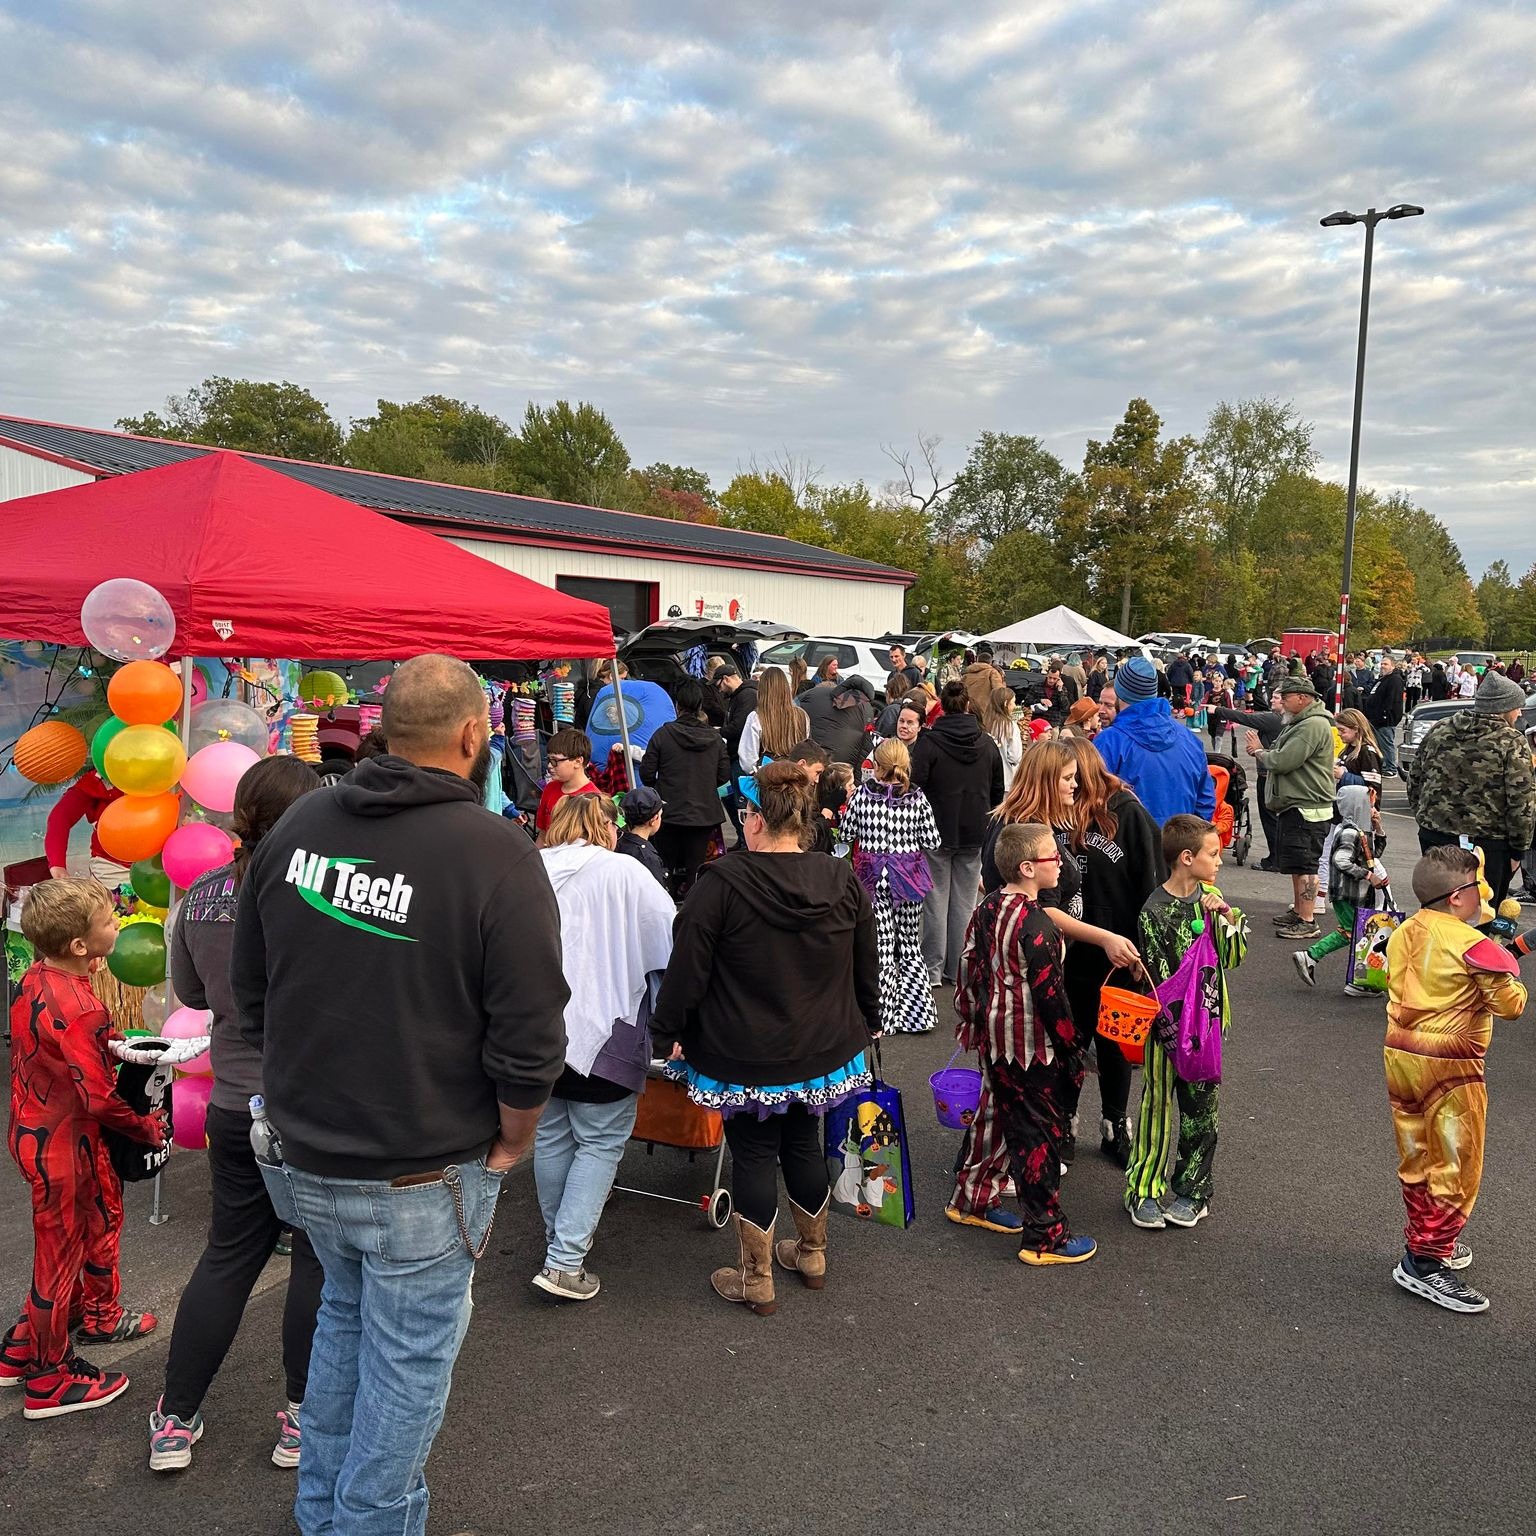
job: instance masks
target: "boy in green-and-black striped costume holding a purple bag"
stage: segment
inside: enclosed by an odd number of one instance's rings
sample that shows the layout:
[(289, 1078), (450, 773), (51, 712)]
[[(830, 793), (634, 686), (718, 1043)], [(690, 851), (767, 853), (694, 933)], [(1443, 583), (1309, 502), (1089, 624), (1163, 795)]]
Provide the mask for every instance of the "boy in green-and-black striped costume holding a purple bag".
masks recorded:
[[(1247, 919), (1227, 906), (1213, 883), (1221, 869), (1221, 834), (1200, 816), (1170, 816), (1163, 825), (1163, 857), (1170, 874), (1147, 897), (1137, 925), (1141, 962), (1154, 985), (1166, 982), (1206, 923), (1213, 925), (1224, 1037), (1232, 1023), (1227, 971), (1247, 952)], [(1126, 1210), (1135, 1226), (1149, 1230), (1169, 1224), (1192, 1227), (1210, 1215), (1220, 1083), (1180, 1078), (1155, 1029), (1147, 1037), (1141, 1078), (1141, 1117), (1126, 1169)], [(1174, 1198), (1164, 1206), (1170, 1158)]]

